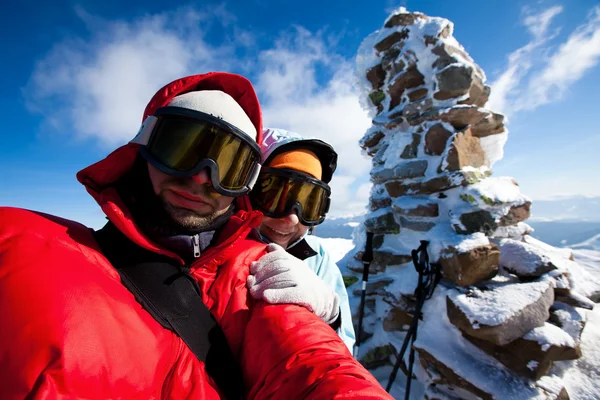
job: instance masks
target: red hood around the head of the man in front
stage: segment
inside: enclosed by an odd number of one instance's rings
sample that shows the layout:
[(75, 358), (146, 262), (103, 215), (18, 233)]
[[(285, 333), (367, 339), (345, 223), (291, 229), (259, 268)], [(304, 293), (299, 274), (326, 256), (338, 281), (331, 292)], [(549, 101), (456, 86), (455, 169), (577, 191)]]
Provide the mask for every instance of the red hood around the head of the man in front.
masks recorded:
[[(161, 88), (150, 100), (142, 121), (171, 101), (175, 96), (197, 90), (221, 90), (238, 102), (244, 109), (257, 131), (257, 142), (262, 142), (262, 115), (258, 98), (250, 81), (240, 75), (226, 72), (209, 72), (177, 79)], [(132, 133), (132, 138), (135, 133)], [(133, 223), (129, 211), (123, 205), (112, 185), (133, 166), (139, 145), (128, 143), (119, 147), (105, 159), (90, 165), (77, 173), (88, 193), (98, 202), (106, 216), (130, 239), (150, 250), (165, 253), (158, 246), (140, 234)], [(251, 210), (247, 196), (236, 199), (239, 209)]]

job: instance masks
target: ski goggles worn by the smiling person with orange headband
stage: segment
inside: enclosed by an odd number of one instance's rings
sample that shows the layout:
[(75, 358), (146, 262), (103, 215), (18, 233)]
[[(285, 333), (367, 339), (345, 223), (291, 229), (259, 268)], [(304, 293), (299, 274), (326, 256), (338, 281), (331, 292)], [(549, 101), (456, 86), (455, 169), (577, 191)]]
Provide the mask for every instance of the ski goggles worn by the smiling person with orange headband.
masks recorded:
[(293, 211), (305, 226), (319, 225), (329, 211), (329, 186), (301, 172), (263, 167), (250, 200), (255, 209), (271, 218)]

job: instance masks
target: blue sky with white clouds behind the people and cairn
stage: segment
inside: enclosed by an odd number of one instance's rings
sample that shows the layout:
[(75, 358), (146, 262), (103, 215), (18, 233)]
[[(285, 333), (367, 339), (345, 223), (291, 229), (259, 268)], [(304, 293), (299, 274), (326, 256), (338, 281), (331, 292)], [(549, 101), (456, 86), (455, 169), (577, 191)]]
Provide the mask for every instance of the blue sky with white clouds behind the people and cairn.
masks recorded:
[(340, 153), (331, 216), (367, 204), (370, 121), (352, 85), (362, 39), (406, 6), (450, 19), (509, 118), (509, 175), (533, 199), (600, 196), (600, 6), (574, 1), (116, 0), (10, 2), (0, 16), (0, 204), (98, 227), (75, 173), (134, 136), (160, 86), (192, 73), (248, 76), (266, 126)]

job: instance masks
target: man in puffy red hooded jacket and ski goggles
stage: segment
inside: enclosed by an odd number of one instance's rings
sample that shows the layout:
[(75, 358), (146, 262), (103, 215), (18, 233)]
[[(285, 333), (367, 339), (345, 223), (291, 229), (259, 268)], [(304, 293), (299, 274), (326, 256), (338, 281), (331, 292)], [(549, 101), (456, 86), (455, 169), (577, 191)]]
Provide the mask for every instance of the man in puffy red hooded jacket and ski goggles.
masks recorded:
[(390, 398), (317, 316), (248, 296), (261, 124), (245, 78), (178, 79), (78, 173), (103, 229), (0, 208), (0, 398)]

